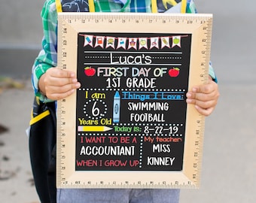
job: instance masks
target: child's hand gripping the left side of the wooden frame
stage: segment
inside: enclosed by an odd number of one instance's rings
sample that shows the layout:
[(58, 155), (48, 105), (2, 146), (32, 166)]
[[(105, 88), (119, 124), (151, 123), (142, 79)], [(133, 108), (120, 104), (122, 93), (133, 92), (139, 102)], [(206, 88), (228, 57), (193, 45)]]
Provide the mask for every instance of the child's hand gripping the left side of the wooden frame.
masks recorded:
[(39, 79), (40, 92), (52, 100), (59, 100), (72, 95), (75, 89), (81, 84), (75, 73), (61, 70), (59, 68), (49, 68)]

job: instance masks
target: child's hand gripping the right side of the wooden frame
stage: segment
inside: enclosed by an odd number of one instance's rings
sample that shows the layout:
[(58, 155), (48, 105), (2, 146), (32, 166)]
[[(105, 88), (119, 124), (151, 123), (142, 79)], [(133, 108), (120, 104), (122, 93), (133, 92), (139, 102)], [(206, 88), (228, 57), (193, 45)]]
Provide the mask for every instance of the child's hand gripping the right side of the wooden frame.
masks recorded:
[(217, 105), (219, 95), (218, 84), (209, 77), (208, 84), (194, 86), (192, 91), (187, 92), (187, 104), (194, 104), (200, 114), (209, 116)]

